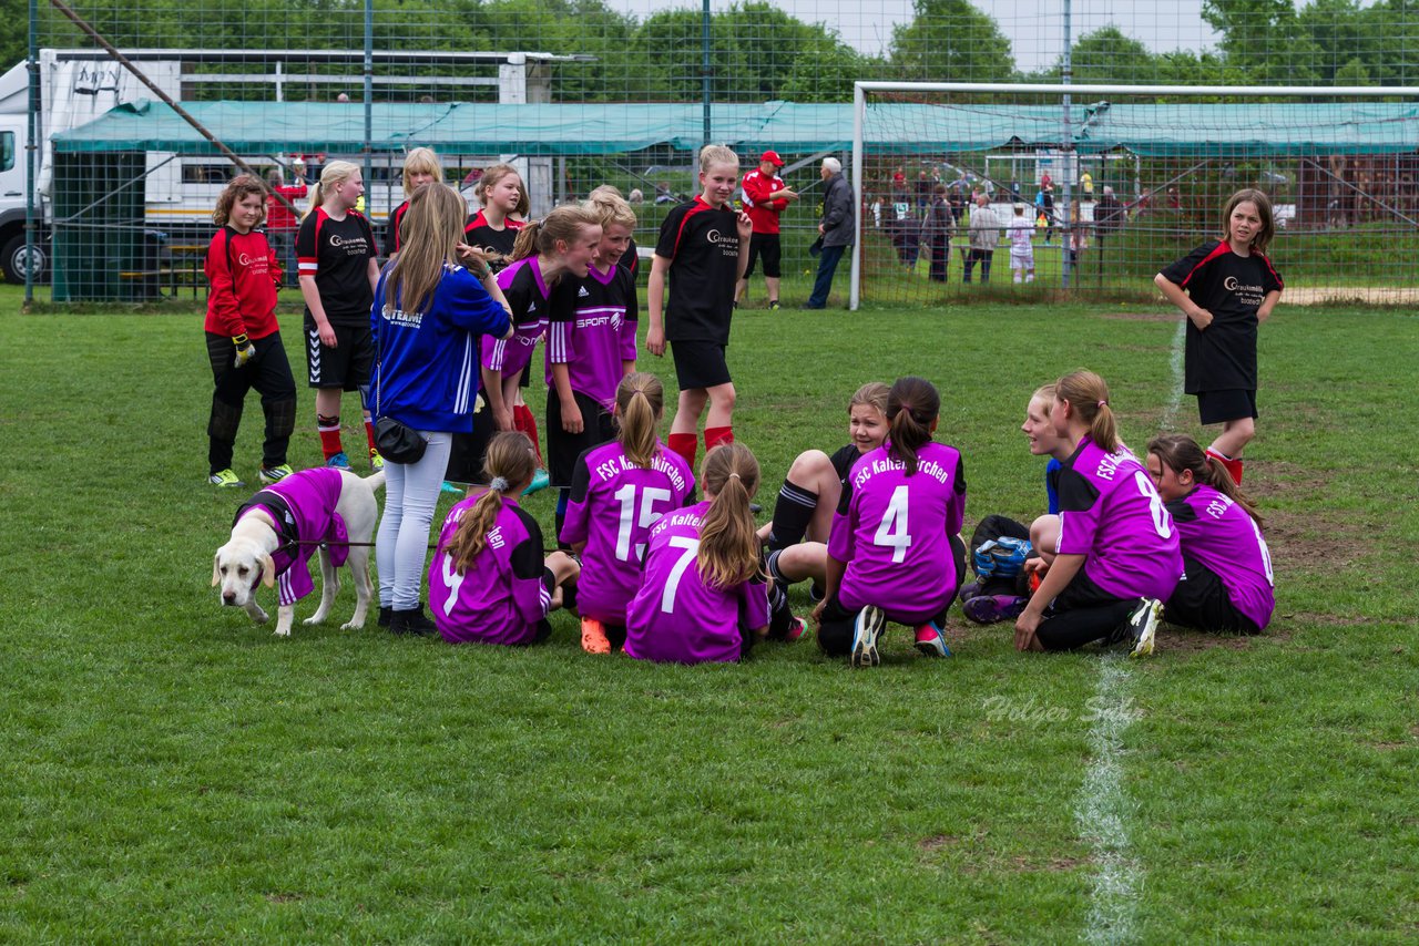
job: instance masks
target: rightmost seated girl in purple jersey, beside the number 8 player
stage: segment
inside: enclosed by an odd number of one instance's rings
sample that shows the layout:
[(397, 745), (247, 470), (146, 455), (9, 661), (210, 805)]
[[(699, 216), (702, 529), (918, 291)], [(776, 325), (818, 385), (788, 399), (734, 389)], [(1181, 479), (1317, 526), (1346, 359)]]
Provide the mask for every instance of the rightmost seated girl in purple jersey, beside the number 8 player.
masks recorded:
[(1182, 540), (1186, 569), (1164, 606), (1171, 624), (1259, 634), (1276, 610), (1261, 516), (1215, 457), (1192, 437), (1148, 443), (1148, 474)]

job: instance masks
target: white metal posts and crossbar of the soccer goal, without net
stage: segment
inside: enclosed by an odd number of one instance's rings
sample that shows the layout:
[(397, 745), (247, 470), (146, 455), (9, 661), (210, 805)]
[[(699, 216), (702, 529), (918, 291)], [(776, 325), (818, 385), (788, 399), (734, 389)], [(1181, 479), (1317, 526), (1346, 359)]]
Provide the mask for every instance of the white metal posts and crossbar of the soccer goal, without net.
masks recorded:
[[(1139, 96), (1236, 96), (1236, 98), (1419, 98), (1419, 88), (1398, 85), (1070, 85), (1040, 82), (854, 82), (853, 84), (853, 262), (849, 309), (857, 311), (863, 288), (863, 125), (868, 92), (993, 92), (1017, 95), (1057, 95), (1060, 99), (1061, 130), (1070, 129), (1070, 96), (1081, 95), (1139, 95)], [(1419, 129), (1416, 129), (1419, 132)], [(1067, 140), (1067, 135), (1061, 136)], [(1419, 150), (1419, 138), (1415, 142)], [(1063, 203), (1070, 200), (1069, 174), (1061, 180)]]

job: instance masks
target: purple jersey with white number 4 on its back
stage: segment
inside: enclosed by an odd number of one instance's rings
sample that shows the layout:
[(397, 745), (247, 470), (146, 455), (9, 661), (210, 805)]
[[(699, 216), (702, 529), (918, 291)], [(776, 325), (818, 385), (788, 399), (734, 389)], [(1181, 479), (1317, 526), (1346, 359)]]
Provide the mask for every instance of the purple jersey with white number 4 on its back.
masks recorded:
[(961, 532), (966, 481), (961, 452), (929, 443), (907, 475), (887, 447), (864, 454), (843, 484), (827, 553), (847, 563), (837, 600), (874, 604), (902, 624), (941, 614), (961, 584), (951, 536)]

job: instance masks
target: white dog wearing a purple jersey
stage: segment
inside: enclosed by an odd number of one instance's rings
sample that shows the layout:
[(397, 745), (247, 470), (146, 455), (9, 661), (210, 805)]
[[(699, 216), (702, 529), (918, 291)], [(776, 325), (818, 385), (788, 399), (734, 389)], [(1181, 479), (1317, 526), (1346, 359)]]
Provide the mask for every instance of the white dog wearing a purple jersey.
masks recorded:
[[(383, 471), (362, 479), (348, 469), (321, 467), (291, 474), (255, 494), (237, 511), (231, 539), (217, 549), (211, 563), (211, 586), (221, 587), (223, 606), (244, 607), (261, 624), (267, 613), (257, 604), (257, 586), (280, 584), (275, 633), (289, 637), (295, 603), (314, 590), (309, 559), (319, 546), (321, 607), (305, 623), (319, 624), (329, 614), (341, 587), (336, 567), (348, 557), (356, 603), (355, 616), (342, 630), (365, 627), (372, 597), (370, 549), (365, 543), (375, 535), (375, 489), (383, 485)], [(328, 542), (329, 549), (321, 542)]]

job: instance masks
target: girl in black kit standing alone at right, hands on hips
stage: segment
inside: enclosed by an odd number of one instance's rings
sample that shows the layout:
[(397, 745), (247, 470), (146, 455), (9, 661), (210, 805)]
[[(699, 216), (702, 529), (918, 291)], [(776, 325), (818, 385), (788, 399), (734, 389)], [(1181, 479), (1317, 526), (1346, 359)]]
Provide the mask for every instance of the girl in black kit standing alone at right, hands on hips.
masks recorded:
[(1185, 390), (1198, 396), (1205, 425), (1222, 424), (1208, 454), (1237, 485), (1242, 451), (1256, 437), (1256, 336), (1281, 298), (1283, 282), (1264, 255), (1276, 224), (1260, 190), (1239, 190), (1222, 211), (1222, 240), (1205, 243), (1154, 277), (1188, 316)]

